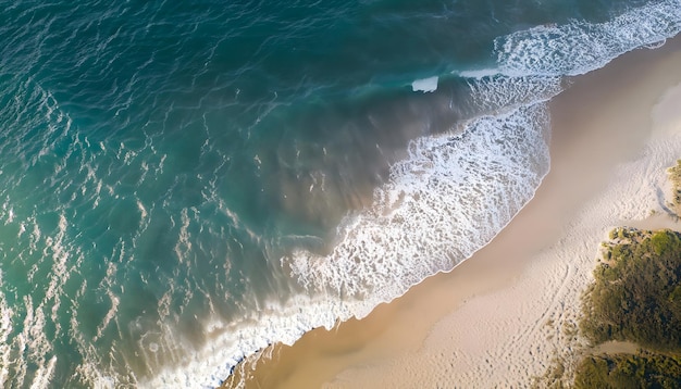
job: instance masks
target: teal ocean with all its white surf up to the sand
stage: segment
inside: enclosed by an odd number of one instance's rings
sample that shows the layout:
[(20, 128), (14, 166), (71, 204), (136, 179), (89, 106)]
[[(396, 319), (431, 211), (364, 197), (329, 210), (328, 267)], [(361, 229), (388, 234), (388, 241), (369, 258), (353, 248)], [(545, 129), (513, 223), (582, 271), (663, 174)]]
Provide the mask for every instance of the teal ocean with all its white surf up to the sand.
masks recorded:
[[(0, 386), (215, 387), (486, 244), (681, 1), (2, 1)], [(623, 80), (626, 81), (626, 80)]]

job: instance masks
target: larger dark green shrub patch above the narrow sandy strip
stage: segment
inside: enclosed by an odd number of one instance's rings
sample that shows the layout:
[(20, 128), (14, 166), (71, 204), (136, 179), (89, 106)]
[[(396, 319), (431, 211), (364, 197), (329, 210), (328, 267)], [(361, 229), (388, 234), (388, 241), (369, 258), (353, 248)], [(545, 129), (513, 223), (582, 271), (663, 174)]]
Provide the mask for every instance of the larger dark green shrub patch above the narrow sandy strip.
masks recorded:
[(592, 343), (681, 350), (681, 235), (633, 228), (612, 235), (584, 294), (583, 335)]

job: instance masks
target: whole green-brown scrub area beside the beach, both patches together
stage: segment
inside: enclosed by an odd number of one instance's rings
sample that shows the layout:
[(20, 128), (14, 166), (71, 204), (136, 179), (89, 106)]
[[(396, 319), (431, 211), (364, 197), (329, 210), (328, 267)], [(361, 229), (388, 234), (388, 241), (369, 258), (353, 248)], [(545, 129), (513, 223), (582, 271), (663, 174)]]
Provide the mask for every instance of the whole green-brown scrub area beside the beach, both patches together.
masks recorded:
[[(602, 244), (594, 281), (582, 297), (579, 332), (586, 346), (556, 359), (541, 387), (681, 387), (681, 234), (619, 227)], [(608, 352), (606, 344), (633, 344)], [(617, 348), (615, 348), (617, 349)], [(621, 347), (620, 347), (621, 349)]]

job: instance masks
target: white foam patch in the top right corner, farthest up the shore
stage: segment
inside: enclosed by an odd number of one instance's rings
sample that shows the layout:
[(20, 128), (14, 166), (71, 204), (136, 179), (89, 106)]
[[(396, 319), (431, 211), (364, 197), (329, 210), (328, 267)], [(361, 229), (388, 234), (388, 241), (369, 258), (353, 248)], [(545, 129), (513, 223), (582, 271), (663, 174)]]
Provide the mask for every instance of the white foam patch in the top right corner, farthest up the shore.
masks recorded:
[(651, 2), (608, 22), (538, 26), (495, 39), (499, 73), (580, 75), (681, 30), (681, 1)]

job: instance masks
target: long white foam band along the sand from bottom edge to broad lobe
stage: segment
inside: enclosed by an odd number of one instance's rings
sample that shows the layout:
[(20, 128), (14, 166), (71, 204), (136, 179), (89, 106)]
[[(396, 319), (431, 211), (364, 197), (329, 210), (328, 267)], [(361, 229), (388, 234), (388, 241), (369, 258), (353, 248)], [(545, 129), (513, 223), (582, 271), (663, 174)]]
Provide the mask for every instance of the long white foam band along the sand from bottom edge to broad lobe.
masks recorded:
[(548, 168), (547, 130), (546, 103), (537, 102), (475, 120), (457, 135), (413, 141), (373, 206), (346, 218), (329, 256), (299, 251), (282, 260), (309, 296), (270, 302), (230, 324), (205, 324), (209, 344), (182, 368), (140, 386), (214, 387), (242, 357), (273, 341), (290, 344), (312, 328), (363, 317), (424, 277), (451, 269), (533, 196)]

